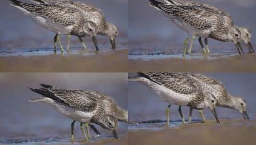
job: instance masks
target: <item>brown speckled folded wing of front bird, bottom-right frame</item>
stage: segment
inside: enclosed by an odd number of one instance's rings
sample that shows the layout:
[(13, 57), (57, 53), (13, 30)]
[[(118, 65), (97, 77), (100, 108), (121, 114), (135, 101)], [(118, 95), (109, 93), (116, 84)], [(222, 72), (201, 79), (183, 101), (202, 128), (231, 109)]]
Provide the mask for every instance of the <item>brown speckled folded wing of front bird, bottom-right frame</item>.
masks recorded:
[(139, 73), (139, 75), (176, 93), (189, 94), (200, 89), (195, 79), (181, 73)]

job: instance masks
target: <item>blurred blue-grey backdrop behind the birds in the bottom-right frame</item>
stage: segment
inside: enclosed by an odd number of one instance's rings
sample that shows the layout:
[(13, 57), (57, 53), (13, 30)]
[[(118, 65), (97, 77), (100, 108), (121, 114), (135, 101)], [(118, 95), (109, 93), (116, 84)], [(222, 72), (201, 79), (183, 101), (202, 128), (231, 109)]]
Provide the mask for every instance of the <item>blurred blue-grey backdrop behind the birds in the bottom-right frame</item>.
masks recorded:
[[(252, 120), (256, 119), (256, 99), (255, 73), (204, 73), (223, 83), (229, 93), (234, 96), (241, 96), (247, 101), (247, 113)], [(129, 73), (129, 76), (134, 76), (136, 73)], [(148, 120), (166, 120), (167, 102), (160, 100), (155, 93), (152, 93), (144, 84), (138, 82), (128, 82), (128, 110), (130, 122), (142, 122)], [(240, 119), (243, 120), (242, 114), (239, 111), (229, 108), (217, 107), (216, 111), (220, 121), (222, 119)], [(214, 120), (214, 116), (209, 109), (204, 111), (206, 120)], [(185, 120), (189, 116), (189, 107), (182, 107), (182, 113)], [(178, 105), (172, 105), (170, 110), (170, 120), (181, 120), (178, 114)], [(197, 110), (193, 111), (192, 119), (201, 119)]]

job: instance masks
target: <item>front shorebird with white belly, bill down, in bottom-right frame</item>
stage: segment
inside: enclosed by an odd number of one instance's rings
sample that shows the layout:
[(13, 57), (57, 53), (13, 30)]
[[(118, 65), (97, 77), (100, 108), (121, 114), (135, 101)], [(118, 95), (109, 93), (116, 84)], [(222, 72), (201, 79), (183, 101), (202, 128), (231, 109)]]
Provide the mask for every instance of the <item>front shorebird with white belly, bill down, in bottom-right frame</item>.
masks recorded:
[(138, 73), (129, 77), (129, 81), (145, 84), (151, 91), (169, 105), (167, 107), (167, 124), (169, 125), (169, 108), (171, 104), (179, 105), (178, 112), (185, 123), (181, 106), (203, 110), (209, 108), (217, 123), (220, 123), (215, 111), (217, 99), (211, 93), (204, 93), (200, 84), (193, 78), (181, 73)]

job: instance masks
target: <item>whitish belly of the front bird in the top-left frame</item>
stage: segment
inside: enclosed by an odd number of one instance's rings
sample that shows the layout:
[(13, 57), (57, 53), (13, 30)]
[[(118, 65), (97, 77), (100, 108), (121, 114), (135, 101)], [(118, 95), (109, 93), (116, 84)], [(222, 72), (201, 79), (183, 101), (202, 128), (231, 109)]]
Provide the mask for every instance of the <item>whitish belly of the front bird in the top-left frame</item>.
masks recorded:
[(63, 34), (63, 35), (68, 35), (70, 34), (71, 30), (73, 29), (72, 25), (60, 25), (60, 24), (55, 24), (52, 22), (47, 22), (45, 18), (41, 16), (32, 16), (33, 21), (37, 22), (38, 24), (44, 26), (46, 29), (53, 31), (57, 34)]

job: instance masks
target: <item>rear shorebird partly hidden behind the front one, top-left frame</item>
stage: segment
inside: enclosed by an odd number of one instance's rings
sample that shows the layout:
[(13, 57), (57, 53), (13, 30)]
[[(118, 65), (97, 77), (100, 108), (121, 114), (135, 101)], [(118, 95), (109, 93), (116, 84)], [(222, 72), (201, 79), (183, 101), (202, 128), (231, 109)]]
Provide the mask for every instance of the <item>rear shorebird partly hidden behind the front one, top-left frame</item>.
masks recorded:
[[(99, 8), (96, 8), (92, 5), (83, 3), (83, 2), (73, 2), (70, 0), (31, 0), (35, 3), (55, 3), (63, 7), (75, 8), (83, 13), (83, 16), (86, 20), (92, 21), (97, 25), (98, 34), (107, 36), (110, 38), (111, 47), (115, 49), (115, 37), (118, 35), (117, 27), (110, 22), (107, 22), (104, 16), (104, 13)], [(79, 38), (80, 39), (80, 38)], [(69, 49), (70, 35), (68, 35), (67, 49)], [(86, 49), (86, 45), (82, 43)]]

